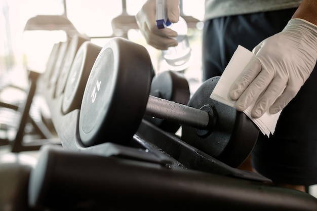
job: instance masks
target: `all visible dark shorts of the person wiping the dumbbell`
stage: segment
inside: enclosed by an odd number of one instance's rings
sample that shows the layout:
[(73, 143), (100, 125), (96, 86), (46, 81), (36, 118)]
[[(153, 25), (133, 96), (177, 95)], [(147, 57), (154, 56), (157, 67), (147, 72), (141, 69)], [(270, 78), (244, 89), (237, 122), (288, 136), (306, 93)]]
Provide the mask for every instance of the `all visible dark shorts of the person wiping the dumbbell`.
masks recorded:
[[(205, 22), (203, 78), (221, 75), (238, 45), (250, 51), (283, 30), (296, 9), (221, 17)], [(317, 184), (317, 68), (283, 109), (274, 135), (259, 135), (253, 167), (274, 182)]]

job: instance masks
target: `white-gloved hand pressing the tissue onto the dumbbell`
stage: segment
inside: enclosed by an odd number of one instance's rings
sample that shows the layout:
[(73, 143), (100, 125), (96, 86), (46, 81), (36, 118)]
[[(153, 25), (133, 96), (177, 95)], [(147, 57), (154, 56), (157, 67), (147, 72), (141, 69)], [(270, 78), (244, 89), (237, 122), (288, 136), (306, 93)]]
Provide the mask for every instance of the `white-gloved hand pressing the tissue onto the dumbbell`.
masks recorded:
[(256, 56), (236, 79), (230, 97), (237, 100), (239, 111), (256, 100), (251, 116), (259, 118), (267, 110), (281, 111), (309, 77), (317, 59), (317, 26), (291, 19), (282, 32), (264, 39), (252, 52)]

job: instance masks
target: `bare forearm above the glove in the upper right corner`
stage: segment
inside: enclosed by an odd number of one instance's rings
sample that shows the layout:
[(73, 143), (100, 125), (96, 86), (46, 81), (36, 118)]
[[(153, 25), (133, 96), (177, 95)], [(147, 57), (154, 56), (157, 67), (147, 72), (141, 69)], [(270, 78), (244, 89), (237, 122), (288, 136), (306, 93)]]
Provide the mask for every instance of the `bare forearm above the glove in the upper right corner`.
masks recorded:
[(317, 0), (303, 0), (292, 18), (301, 18), (317, 25)]

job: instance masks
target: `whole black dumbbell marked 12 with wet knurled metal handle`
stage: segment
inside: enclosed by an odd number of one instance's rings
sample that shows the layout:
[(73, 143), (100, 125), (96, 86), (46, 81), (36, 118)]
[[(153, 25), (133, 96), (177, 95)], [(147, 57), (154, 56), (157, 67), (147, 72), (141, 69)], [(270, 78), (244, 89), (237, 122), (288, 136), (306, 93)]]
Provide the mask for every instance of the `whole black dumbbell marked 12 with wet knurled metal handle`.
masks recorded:
[(108, 41), (84, 91), (78, 118), (82, 144), (128, 144), (148, 115), (181, 124), (184, 142), (228, 165), (241, 164), (252, 151), (259, 130), (243, 112), (209, 98), (218, 78), (204, 82), (188, 105), (183, 105), (149, 95), (151, 67), (143, 46), (120, 37)]

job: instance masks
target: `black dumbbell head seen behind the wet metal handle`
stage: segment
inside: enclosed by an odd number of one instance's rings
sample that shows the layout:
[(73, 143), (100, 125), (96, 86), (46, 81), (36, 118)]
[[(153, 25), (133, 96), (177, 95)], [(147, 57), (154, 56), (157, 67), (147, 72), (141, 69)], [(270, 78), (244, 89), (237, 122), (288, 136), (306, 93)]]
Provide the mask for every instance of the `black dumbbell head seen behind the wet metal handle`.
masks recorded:
[[(152, 80), (150, 95), (187, 105), (190, 97), (188, 81), (178, 72), (161, 72)], [(180, 128), (180, 124), (165, 119), (150, 116), (144, 116), (144, 119), (170, 133), (176, 133)]]

